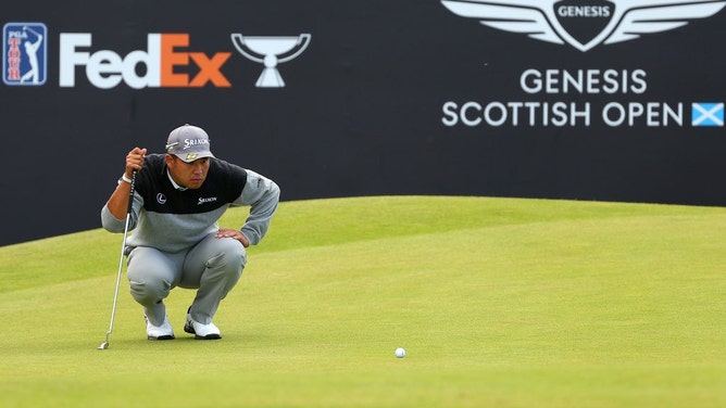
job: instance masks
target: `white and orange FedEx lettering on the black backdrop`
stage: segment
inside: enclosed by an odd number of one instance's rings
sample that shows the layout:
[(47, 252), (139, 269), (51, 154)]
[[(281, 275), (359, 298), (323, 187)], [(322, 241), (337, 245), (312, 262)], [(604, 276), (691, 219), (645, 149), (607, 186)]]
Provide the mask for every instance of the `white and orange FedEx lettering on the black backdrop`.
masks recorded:
[[(75, 87), (77, 67), (85, 67), (88, 81), (101, 89), (114, 88), (122, 80), (135, 89), (231, 86), (221, 71), (231, 53), (206, 56), (203, 52), (186, 51), (188, 34), (149, 34), (146, 51), (136, 50), (124, 56), (111, 50), (90, 52), (90, 46), (89, 33), (61, 34), (61, 87)], [(138, 69), (139, 65), (145, 68)], [(195, 75), (190, 75), (192, 72)]]

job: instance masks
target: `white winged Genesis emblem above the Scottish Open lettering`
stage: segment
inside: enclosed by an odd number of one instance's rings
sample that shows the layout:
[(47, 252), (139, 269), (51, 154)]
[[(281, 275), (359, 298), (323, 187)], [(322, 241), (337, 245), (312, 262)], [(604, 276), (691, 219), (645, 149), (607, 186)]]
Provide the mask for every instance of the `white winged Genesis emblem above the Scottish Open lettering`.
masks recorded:
[(718, 13), (725, 0), (441, 0), (452, 13), (585, 52)]

